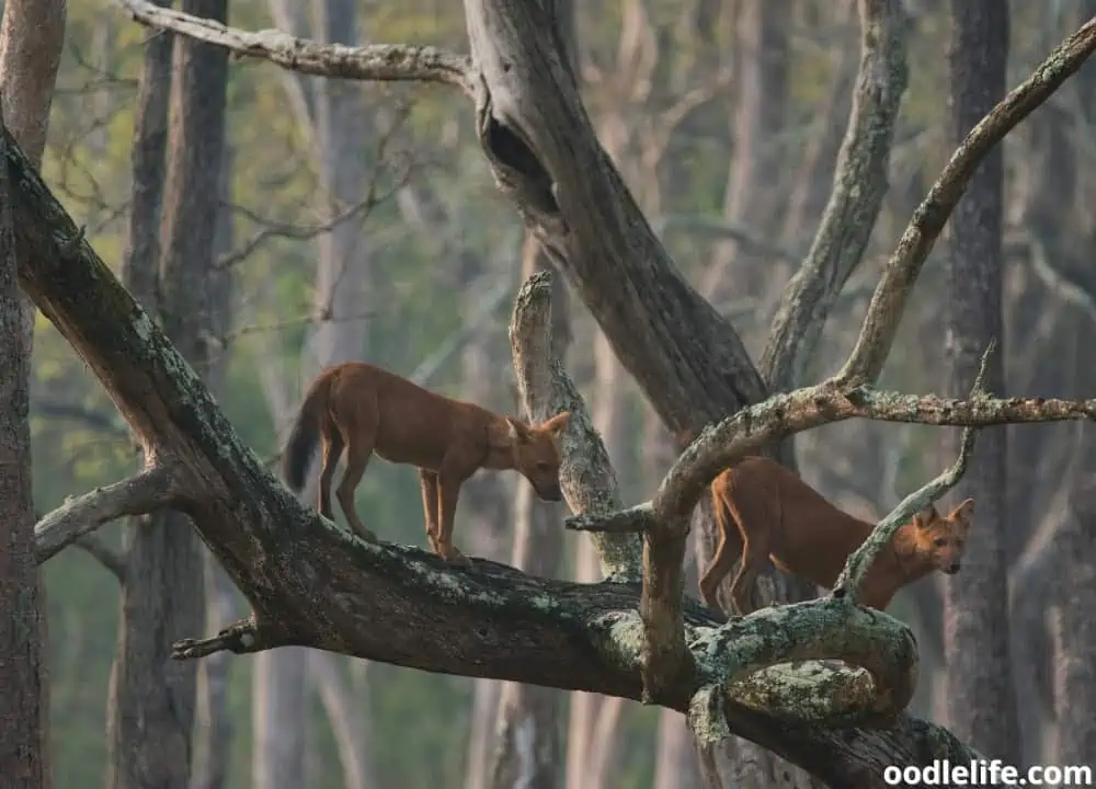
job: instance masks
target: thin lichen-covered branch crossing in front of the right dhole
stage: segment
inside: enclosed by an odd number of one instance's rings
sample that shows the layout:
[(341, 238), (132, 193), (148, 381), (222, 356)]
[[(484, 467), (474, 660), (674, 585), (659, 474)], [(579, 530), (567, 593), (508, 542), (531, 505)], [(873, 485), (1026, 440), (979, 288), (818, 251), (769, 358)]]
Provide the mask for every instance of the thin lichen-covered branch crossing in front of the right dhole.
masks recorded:
[[(996, 340), (991, 340), (985, 353), (982, 354), (982, 365), (978, 370), (978, 376), (974, 378), (974, 386), (970, 392), (970, 399), (972, 401), (980, 397), (985, 397), (985, 391), (983, 389), (985, 369), (986, 365), (990, 363), (990, 355), (993, 353), (996, 344)], [(879, 556), (880, 551), (882, 551), (887, 544), (891, 541), (894, 533), (898, 531), (902, 524), (906, 523), (915, 512), (918, 512), (920, 510), (923, 510), (929, 504), (936, 502), (959, 483), (959, 480), (962, 479), (962, 476), (967, 472), (967, 464), (970, 460), (970, 455), (974, 451), (975, 432), (974, 427), (963, 427), (962, 441), (959, 447), (959, 457), (956, 458), (955, 464), (945, 470), (939, 477), (922, 485), (903, 499), (899, 505), (887, 515), (887, 517), (876, 525), (876, 528), (871, 531), (864, 544), (849, 554), (848, 559), (845, 560), (845, 567), (842, 569), (841, 575), (837, 576), (837, 582), (833, 586), (834, 597), (847, 596), (852, 601), (857, 601), (857, 594), (860, 591), (860, 585), (864, 583), (865, 576), (868, 574), (868, 570), (871, 569), (871, 564)]]

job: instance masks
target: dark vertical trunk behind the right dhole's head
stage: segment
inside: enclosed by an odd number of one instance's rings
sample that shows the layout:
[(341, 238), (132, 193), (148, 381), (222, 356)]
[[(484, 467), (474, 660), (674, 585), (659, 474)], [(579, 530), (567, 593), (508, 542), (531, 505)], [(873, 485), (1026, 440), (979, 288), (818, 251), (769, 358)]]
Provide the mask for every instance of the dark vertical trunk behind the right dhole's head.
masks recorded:
[[(949, 146), (958, 145), (1004, 96), (1008, 4), (952, 0), (951, 25)], [(952, 396), (970, 391), (990, 339), (1004, 340), (1002, 180), (998, 146), (971, 179), (945, 239), (951, 258), (946, 354), (951, 362), (947, 393)], [(1003, 355), (998, 346), (985, 381), (997, 397), (1004, 395)], [(948, 451), (957, 451), (958, 438), (959, 431), (948, 432)], [(982, 431), (967, 476), (955, 489), (956, 501), (974, 498), (978, 515), (962, 569), (946, 584), (944, 647), (952, 731), (986, 756), (1016, 763), (1020, 744), (1008, 653), (1005, 457), (1005, 431)]]

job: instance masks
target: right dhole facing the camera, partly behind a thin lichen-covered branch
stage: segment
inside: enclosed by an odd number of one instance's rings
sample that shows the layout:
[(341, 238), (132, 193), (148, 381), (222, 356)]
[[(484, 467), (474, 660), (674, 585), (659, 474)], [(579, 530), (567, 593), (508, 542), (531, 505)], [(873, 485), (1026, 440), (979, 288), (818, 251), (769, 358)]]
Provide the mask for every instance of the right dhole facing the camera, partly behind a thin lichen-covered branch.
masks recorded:
[[(711, 508), (719, 526), (719, 547), (700, 579), (700, 596), (723, 614), (716, 590), (734, 560), (742, 567), (731, 586), (740, 616), (754, 610), (757, 573), (772, 561), (784, 572), (832, 588), (848, 556), (868, 538), (875, 524), (853, 517), (775, 460), (747, 457), (711, 483)], [(934, 570), (959, 572), (974, 501), (967, 499), (950, 515), (934, 504), (902, 524), (868, 569), (860, 605), (886, 610), (894, 594)]]

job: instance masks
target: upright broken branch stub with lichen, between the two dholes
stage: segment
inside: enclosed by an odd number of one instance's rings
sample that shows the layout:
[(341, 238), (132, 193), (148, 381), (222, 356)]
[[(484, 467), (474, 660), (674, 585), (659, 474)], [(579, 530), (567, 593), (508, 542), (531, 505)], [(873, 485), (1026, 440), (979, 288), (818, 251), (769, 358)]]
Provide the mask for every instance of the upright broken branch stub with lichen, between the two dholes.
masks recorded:
[[(522, 403), (543, 422), (563, 411), (571, 418), (560, 442), (560, 487), (571, 512), (602, 516), (620, 507), (616, 471), (586, 404), (560, 359), (552, 354), (552, 273), (533, 274), (517, 293), (510, 344)], [(635, 535), (591, 534), (606, 581), (638, 582), (641, 546)]]

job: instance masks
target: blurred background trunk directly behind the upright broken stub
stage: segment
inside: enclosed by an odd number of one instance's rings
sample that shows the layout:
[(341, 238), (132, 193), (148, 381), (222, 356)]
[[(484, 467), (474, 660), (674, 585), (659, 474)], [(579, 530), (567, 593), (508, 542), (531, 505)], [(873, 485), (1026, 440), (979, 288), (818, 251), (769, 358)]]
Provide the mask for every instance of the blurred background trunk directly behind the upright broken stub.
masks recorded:
[[(545, 268), (547, 259), (536, 239), (526, 233), (522, 279)], [(552, 353), (564, 358), (570, 339), (567, 285), (556, 277), (552, 288)], [(514, 504), (514, 548), (511, 564), (532, 575), (555, 578), (563, 535), (559, 523), (563, 504), (538, 501), (528, 484), (517, 485)], [(555, 688), (502, 683), (490, 789), (557, 789), (560, 767), (559, 701)]]

